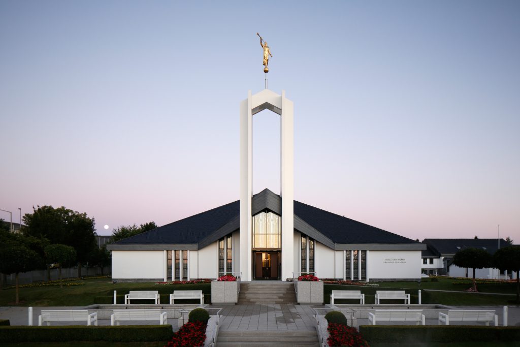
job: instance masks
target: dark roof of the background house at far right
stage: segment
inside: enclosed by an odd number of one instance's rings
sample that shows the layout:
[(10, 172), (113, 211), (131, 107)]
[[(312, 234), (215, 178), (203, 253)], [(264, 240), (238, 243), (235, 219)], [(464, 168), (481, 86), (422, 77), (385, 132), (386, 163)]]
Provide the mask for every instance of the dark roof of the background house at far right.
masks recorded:
[[(490, 254), (498, 250), (498, 239), (424, 239), (426, 247), (437, 254), (454, 254), (464, 248), (485, 249)], [(500, 248), (511, 246), (504, 239), (500, 239)]]

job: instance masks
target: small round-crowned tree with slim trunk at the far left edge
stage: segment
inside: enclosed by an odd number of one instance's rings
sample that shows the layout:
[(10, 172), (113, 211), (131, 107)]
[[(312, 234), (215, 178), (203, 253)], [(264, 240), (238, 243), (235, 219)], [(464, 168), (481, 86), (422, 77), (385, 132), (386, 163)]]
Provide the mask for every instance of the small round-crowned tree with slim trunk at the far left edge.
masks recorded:
[(16, 278), (16, 300), (20, 302), (18, 275), (35, 268), (35, 260), (38, 254), (25, 247), (16, 240), (7, 240), (0, 245), (0, 272), (3, 274), (15, 274)]

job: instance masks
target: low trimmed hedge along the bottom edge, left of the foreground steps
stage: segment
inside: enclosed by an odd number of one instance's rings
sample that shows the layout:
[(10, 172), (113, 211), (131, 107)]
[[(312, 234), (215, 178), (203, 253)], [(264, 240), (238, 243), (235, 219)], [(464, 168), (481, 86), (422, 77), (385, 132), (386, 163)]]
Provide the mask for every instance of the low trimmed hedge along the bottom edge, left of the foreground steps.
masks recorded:
[(152, 342), (173, 336), (171, 325), (0, 327), (0, 344), (5, 342)]

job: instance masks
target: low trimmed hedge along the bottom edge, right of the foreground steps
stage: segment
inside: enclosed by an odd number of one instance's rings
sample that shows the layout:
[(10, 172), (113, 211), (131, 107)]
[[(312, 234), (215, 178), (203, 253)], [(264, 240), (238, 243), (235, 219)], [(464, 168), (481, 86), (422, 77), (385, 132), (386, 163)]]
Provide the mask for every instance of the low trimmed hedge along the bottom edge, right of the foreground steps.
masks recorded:
[(362, 325), (368, 342), (487, 342), (520, 341), (520, 327)]

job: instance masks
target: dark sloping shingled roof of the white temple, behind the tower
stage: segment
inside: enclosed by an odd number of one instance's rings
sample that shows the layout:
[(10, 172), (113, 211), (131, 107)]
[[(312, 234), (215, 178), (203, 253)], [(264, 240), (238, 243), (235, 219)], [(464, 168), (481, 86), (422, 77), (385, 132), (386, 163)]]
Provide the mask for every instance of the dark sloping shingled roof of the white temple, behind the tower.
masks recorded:
[[(270, 196), (266, 198), (264, 195)], [(266, 189), (256, 194), (257, 203), (280, 199), (280, 196)], [(259, 199), (258, 198), (263, 198)], [(253, 200), (255, 201), (255, 200)], [(276, 204), (272, 204), (275, 206)], [(269, 205), (266, 205), (269, 210)], [(276, 211), (273, 211), (276, 212)], [(166, 224), (138, 234), (112, 245), (157, 245), (157, 244), (197, 244), (210, 237), (240, 214), (240, 201), (234, 201), (215, 209), (205, 211), (177, 222)], [(318, 230), (334, 243), (418, 243), (414, 240), (386, 232), (364, 223), (327, 212), (302, 202), (294, 201), (294, 215)], [(217, 238), (216, 238), (217, 239)], [(216, 240), (215, 239), (215, 240)], [(110, 249), (110, 247), (109, 247)]]

